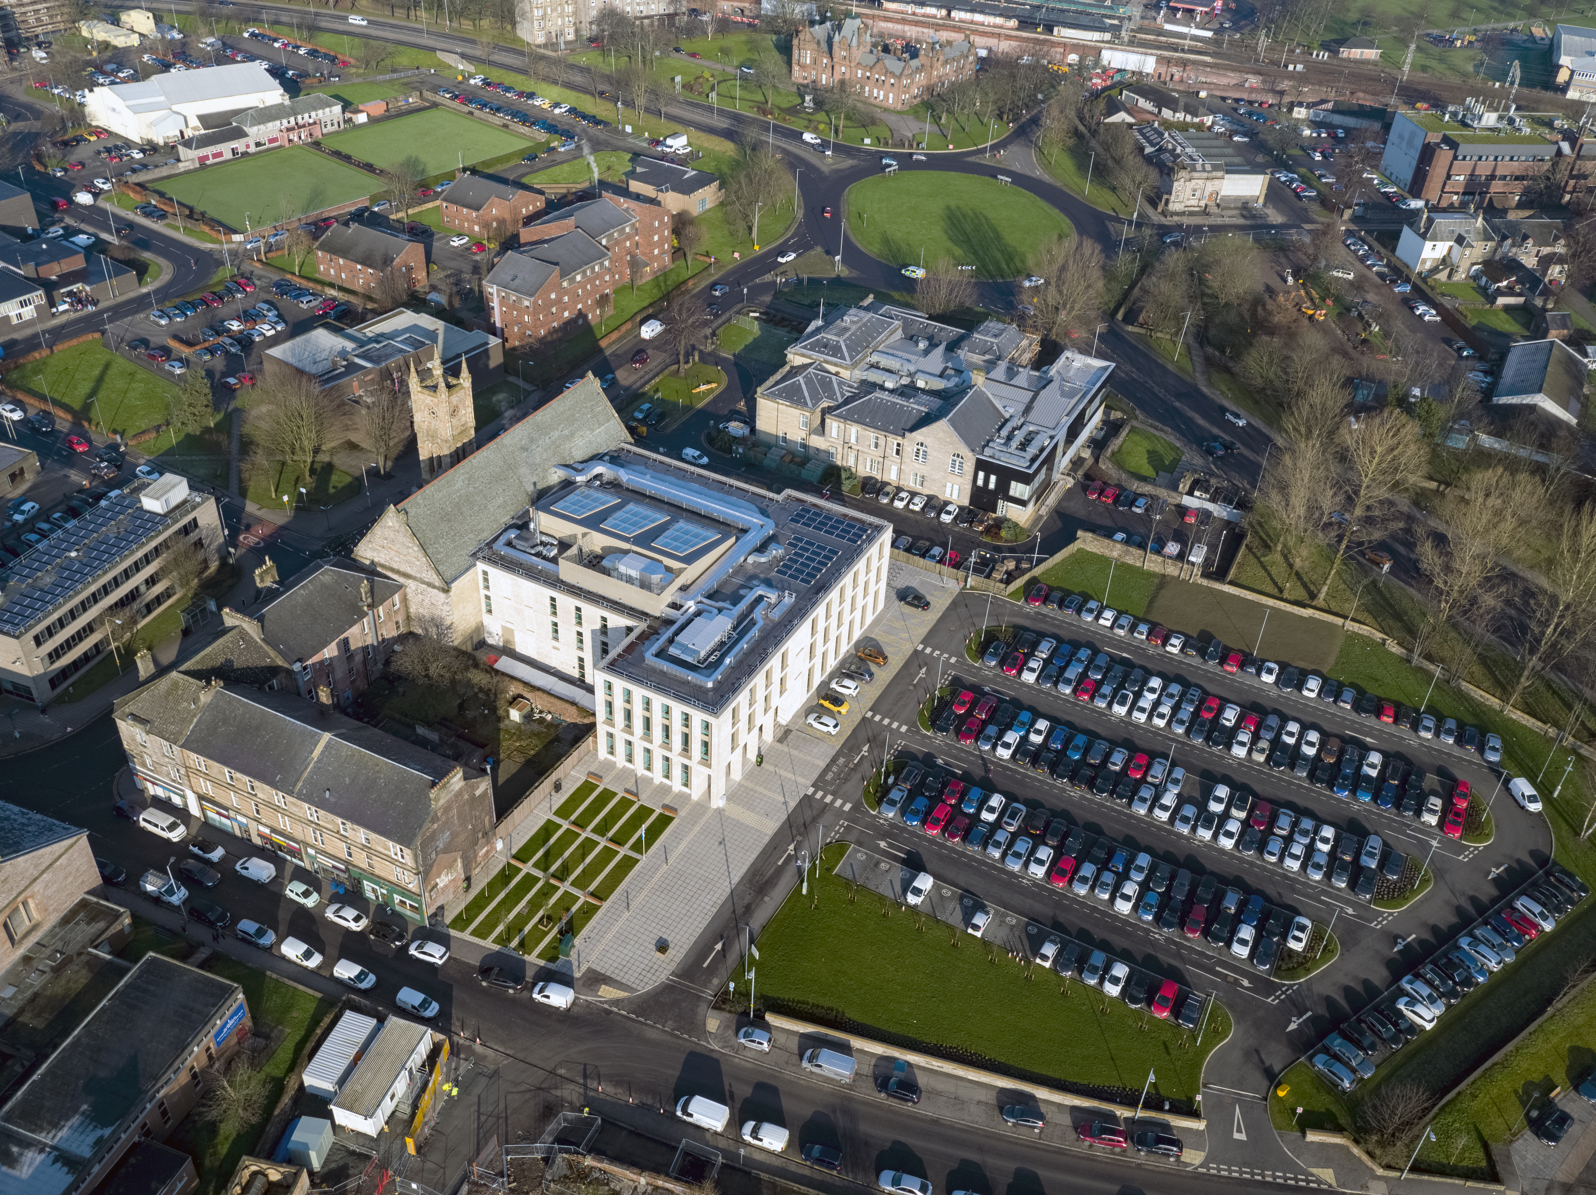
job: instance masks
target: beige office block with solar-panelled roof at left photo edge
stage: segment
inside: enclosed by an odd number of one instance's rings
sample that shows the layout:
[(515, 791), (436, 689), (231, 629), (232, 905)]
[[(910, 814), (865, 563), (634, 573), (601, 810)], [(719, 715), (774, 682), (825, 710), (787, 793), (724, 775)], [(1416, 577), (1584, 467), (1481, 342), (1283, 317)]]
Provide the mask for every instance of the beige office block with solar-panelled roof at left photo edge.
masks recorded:
[(168, 474), (128, 485), (24, 552), (0, 574), (0, 689), (53, 700), (110, 651), (102, 616), (144, 625), (166, 609), (177, 590), (163, 565), (180, 539), (215, 563), (225, 536), (215, 499)]

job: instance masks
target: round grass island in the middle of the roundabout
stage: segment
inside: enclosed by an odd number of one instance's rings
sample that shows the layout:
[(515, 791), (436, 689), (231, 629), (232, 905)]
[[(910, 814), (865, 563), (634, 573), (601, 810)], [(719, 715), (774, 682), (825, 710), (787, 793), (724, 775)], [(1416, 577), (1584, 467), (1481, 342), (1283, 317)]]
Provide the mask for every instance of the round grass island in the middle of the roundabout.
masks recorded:
[(948, 258), (978, 278), (1018, 278), (1069, 222), (1029, 191), (972, 174), (876, 176), (847, 190), (847, 235), (891, 265)]

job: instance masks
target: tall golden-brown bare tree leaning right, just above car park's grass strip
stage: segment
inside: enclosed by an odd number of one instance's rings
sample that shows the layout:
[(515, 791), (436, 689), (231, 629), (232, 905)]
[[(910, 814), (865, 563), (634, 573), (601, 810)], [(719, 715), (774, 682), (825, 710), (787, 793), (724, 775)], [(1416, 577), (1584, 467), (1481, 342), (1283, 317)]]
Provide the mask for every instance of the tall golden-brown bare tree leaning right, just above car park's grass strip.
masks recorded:
[[(1334, 491), (1341, 499), (1336, 554), (1318, 594), (1314, 595), (1315, 605), (1325, 603), (1347, 550), (1355, 542), (1373, 542), (1385, 533), (1395, 499), (1424, 475), (1428, 445), (1417, 423), (1401, 412), (1384, 410), (1361, 416), (1357, 426), (1349, 420), (1341, 436), (1339, 458), (1339, 477), (1334, 479)], [(1596, 581), (1596, 554), (1593, 554), (1593, 581)]]

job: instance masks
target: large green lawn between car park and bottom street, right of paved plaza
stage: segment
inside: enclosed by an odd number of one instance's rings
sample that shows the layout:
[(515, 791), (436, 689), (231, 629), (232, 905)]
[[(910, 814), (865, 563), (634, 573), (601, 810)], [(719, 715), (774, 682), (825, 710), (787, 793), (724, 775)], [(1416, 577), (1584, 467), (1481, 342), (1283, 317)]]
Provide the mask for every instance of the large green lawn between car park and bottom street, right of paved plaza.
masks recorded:
[[(851, 898), (852, 885), (833, 874), (847, 850), (827, 847), (811, 895), (793, 892), (764, 927), (758, 996), (766, 1010), (1128, 1102), (1156, 1071), (1154, 1094), (1191, 1106), (1205, 1053), (1229, 1035), (1223, 1007), (1215, 1005), (1194, 1048), (1194, 1034), (1179, 1026), (1061, 984), (1050, 972), (1028, 976), (1028, 967), (961, 929), (903, 913), (870, 890)], [(900, 983), (903, 975), (937, 978)], [(948, 1016), (948, 1008), (1002, 1015)]]

